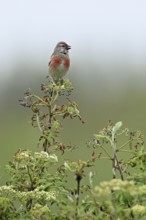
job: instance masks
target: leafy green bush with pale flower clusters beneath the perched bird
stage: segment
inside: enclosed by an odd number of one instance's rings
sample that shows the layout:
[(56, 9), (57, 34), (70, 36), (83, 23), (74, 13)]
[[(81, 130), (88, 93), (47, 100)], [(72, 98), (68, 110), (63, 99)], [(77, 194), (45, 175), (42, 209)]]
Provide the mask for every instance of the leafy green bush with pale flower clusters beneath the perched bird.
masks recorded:
[[(10, 179), (0, 186), (0, 219), (146, 219), (146, 152), (141, 132), (109, 121), (87, 143), (91, 150), (87, 161), (67, 160), (66, 152), (78, 155), (78, 149), (60, 141), (62, 119), (78, 118), (84, 123), (71, 99), (72, 84), (48, 79), (41, 90), (42, 96), (28, 90), (20, 100), (32, 111), (41, 151), (19, 149), (6, 166)], [(111, 162), (111, 180), (99, 184), (94, 171), (98, 160)]]

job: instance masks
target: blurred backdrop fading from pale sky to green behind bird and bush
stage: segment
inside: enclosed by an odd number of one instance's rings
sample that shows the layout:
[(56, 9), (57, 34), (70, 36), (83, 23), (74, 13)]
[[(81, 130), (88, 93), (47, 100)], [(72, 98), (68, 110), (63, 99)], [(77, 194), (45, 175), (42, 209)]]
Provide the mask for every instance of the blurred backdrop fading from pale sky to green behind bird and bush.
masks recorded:
[[(63, 122), (62, 141), (80, 149), (73, 158), (88, 158), (86, 142), (109, 120), (122, 121), (125, 127), (145, 134), (145, 8), (144, 1), (132, 0), (1, 4), (1, 182), (6, 178), (5, 164), (19, 148), (39, 150), (31, 112), (19, 106), (18, 99), (28, 88), (40, 91), (49, 57), (60, 40), (72, 46), (67, 78), (74, 86), (72, 99), (86, 121)], [(107, 167), (101, 164), (99, 176)]]

